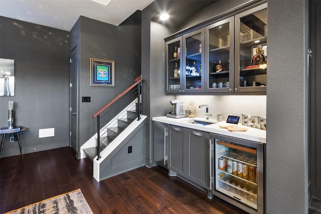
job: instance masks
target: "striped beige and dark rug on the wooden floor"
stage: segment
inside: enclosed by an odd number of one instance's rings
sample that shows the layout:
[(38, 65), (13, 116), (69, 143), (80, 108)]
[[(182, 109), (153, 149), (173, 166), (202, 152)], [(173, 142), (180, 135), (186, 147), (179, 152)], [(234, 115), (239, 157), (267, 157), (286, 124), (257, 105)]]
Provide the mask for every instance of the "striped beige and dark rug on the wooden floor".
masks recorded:
[(93, 213), (80, 189), (57, 195), (43, 201), (7, 212), (18, 213)]

